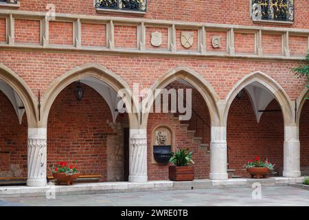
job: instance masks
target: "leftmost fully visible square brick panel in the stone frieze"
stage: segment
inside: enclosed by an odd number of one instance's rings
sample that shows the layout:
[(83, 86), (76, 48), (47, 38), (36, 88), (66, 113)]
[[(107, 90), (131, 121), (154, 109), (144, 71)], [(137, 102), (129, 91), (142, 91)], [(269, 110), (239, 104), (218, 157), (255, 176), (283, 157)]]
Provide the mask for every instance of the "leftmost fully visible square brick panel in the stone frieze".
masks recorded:
[(40, 43), (40, 21), (15, 19), (15, 43)]

